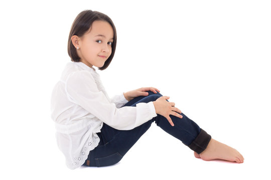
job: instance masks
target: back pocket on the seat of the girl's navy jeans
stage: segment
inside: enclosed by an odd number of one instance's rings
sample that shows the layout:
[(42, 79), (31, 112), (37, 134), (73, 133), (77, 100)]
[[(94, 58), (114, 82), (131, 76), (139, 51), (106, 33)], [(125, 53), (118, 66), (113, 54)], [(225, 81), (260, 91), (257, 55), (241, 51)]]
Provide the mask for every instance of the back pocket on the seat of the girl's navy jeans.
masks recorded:
[(116, 152), (105, 157), (95, 158), (95, 161), (96, 161), (97, 167), (102, 167), (102, 166), (113, 165), (119, 162), (122, 157), (123, 156), (120, 153)]

